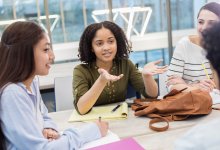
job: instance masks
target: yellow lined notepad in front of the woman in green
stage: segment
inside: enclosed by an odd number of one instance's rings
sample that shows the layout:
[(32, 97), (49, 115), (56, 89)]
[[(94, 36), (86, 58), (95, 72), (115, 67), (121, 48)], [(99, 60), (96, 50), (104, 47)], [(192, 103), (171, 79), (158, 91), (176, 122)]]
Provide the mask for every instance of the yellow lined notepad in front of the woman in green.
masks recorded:
[(108, 106), (96, 106), (93, 107), (92, 110), (85, 115), (79, 115), (76, 110), (73, 110), (68, 122), (98, 120), (99, 117), (105, 120), (126, 119), (128, 114), (128, 104), (126, 102), (123, 102), (120, 104), (120, 107), (112, 112), (112, 110), (117, 105), (118, 104)]

